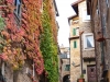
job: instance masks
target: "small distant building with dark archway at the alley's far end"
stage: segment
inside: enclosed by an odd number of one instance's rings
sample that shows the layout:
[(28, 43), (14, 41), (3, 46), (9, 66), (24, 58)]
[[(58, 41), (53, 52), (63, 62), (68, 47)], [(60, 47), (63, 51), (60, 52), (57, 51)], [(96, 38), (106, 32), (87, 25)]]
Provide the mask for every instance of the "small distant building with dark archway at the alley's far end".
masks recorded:
[(59, 47), (59, 82), (69, 82), (69, 47)]

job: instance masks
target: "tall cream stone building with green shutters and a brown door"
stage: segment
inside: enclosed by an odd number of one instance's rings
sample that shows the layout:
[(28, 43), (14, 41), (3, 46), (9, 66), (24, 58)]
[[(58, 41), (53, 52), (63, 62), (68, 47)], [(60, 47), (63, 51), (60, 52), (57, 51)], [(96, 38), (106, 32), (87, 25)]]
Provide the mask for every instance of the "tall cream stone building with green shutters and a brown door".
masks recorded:
[(72, 4), (76, 15), (69, 17), (70, 25), (70, 82), (77, 82), (80, 75), (85, 81), (96, 81), (96, 57), (90, 15), (87, 14), (86, 0)]

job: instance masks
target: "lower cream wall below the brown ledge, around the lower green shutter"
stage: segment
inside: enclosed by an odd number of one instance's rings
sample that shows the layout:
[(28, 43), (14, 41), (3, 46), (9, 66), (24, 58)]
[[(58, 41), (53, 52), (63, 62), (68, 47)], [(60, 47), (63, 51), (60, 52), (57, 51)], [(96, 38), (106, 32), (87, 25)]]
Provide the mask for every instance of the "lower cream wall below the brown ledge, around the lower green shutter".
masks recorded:
[[(77, 42), (77, 48), (74, 48), (74, 40)], [(79, 38), (70, 39), (70, 82), (77, 82), (80, 77), (80, 43)]]

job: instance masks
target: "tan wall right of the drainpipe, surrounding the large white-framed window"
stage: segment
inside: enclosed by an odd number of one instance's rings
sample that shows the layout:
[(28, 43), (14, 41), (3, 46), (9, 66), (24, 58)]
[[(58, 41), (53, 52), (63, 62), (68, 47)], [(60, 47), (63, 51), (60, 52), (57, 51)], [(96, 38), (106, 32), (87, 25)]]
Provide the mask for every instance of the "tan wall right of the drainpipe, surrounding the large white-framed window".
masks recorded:
[[(91, 22), (90, 22), (90, 15), (86, 13), (84, 13), (85, 11), (87, 11), (87, 3), (86, 1), (82, 1), (78, 4), (78, 9), (79, 9), (79, 26), (80, 26), (80, 32), (82, 32), (81, 36), (81, 55), (82, 55), (82, 70), (86, 71), (86, 73), (84, 73), (85, 75), (85, 81), (88, 81), (88, 72), (87, 72), (87, 67), (91, 66), (91, 65), (96, 65), (96, 61), (89, 61), (89, 58), (96, 58), (95, 56), (95, 47), (92, 48), (87, 48), (85, 49), (85, 35), (91, 34), (94, 35), (92, 32), (92, 26), (91, 26)], [(86, 17), (85, 17), (86, 15)], [(87, 17), (88, 16), (88, 17)], [(94, 37), (95, 38), (95, 37)], [(84, 58), (88, 59), (88, 61), (84, 61)]]

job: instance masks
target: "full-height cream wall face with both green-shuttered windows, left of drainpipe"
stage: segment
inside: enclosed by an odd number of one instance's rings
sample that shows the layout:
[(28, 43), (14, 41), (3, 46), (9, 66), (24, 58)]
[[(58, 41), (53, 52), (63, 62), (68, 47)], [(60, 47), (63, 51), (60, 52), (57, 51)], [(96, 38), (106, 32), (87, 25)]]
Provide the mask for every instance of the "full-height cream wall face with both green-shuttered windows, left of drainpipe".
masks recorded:
[[(80, 77), (80, 39), (79, 33), (73, 35), (74, 28), (79, 28), (79, 19), (78, 16), (73, 17), (73, 23), (70, 24), (70, 82), (77, 82), (77, 79)], [(74, 42), (76, 42), (77, 47), (74, 48)]]

